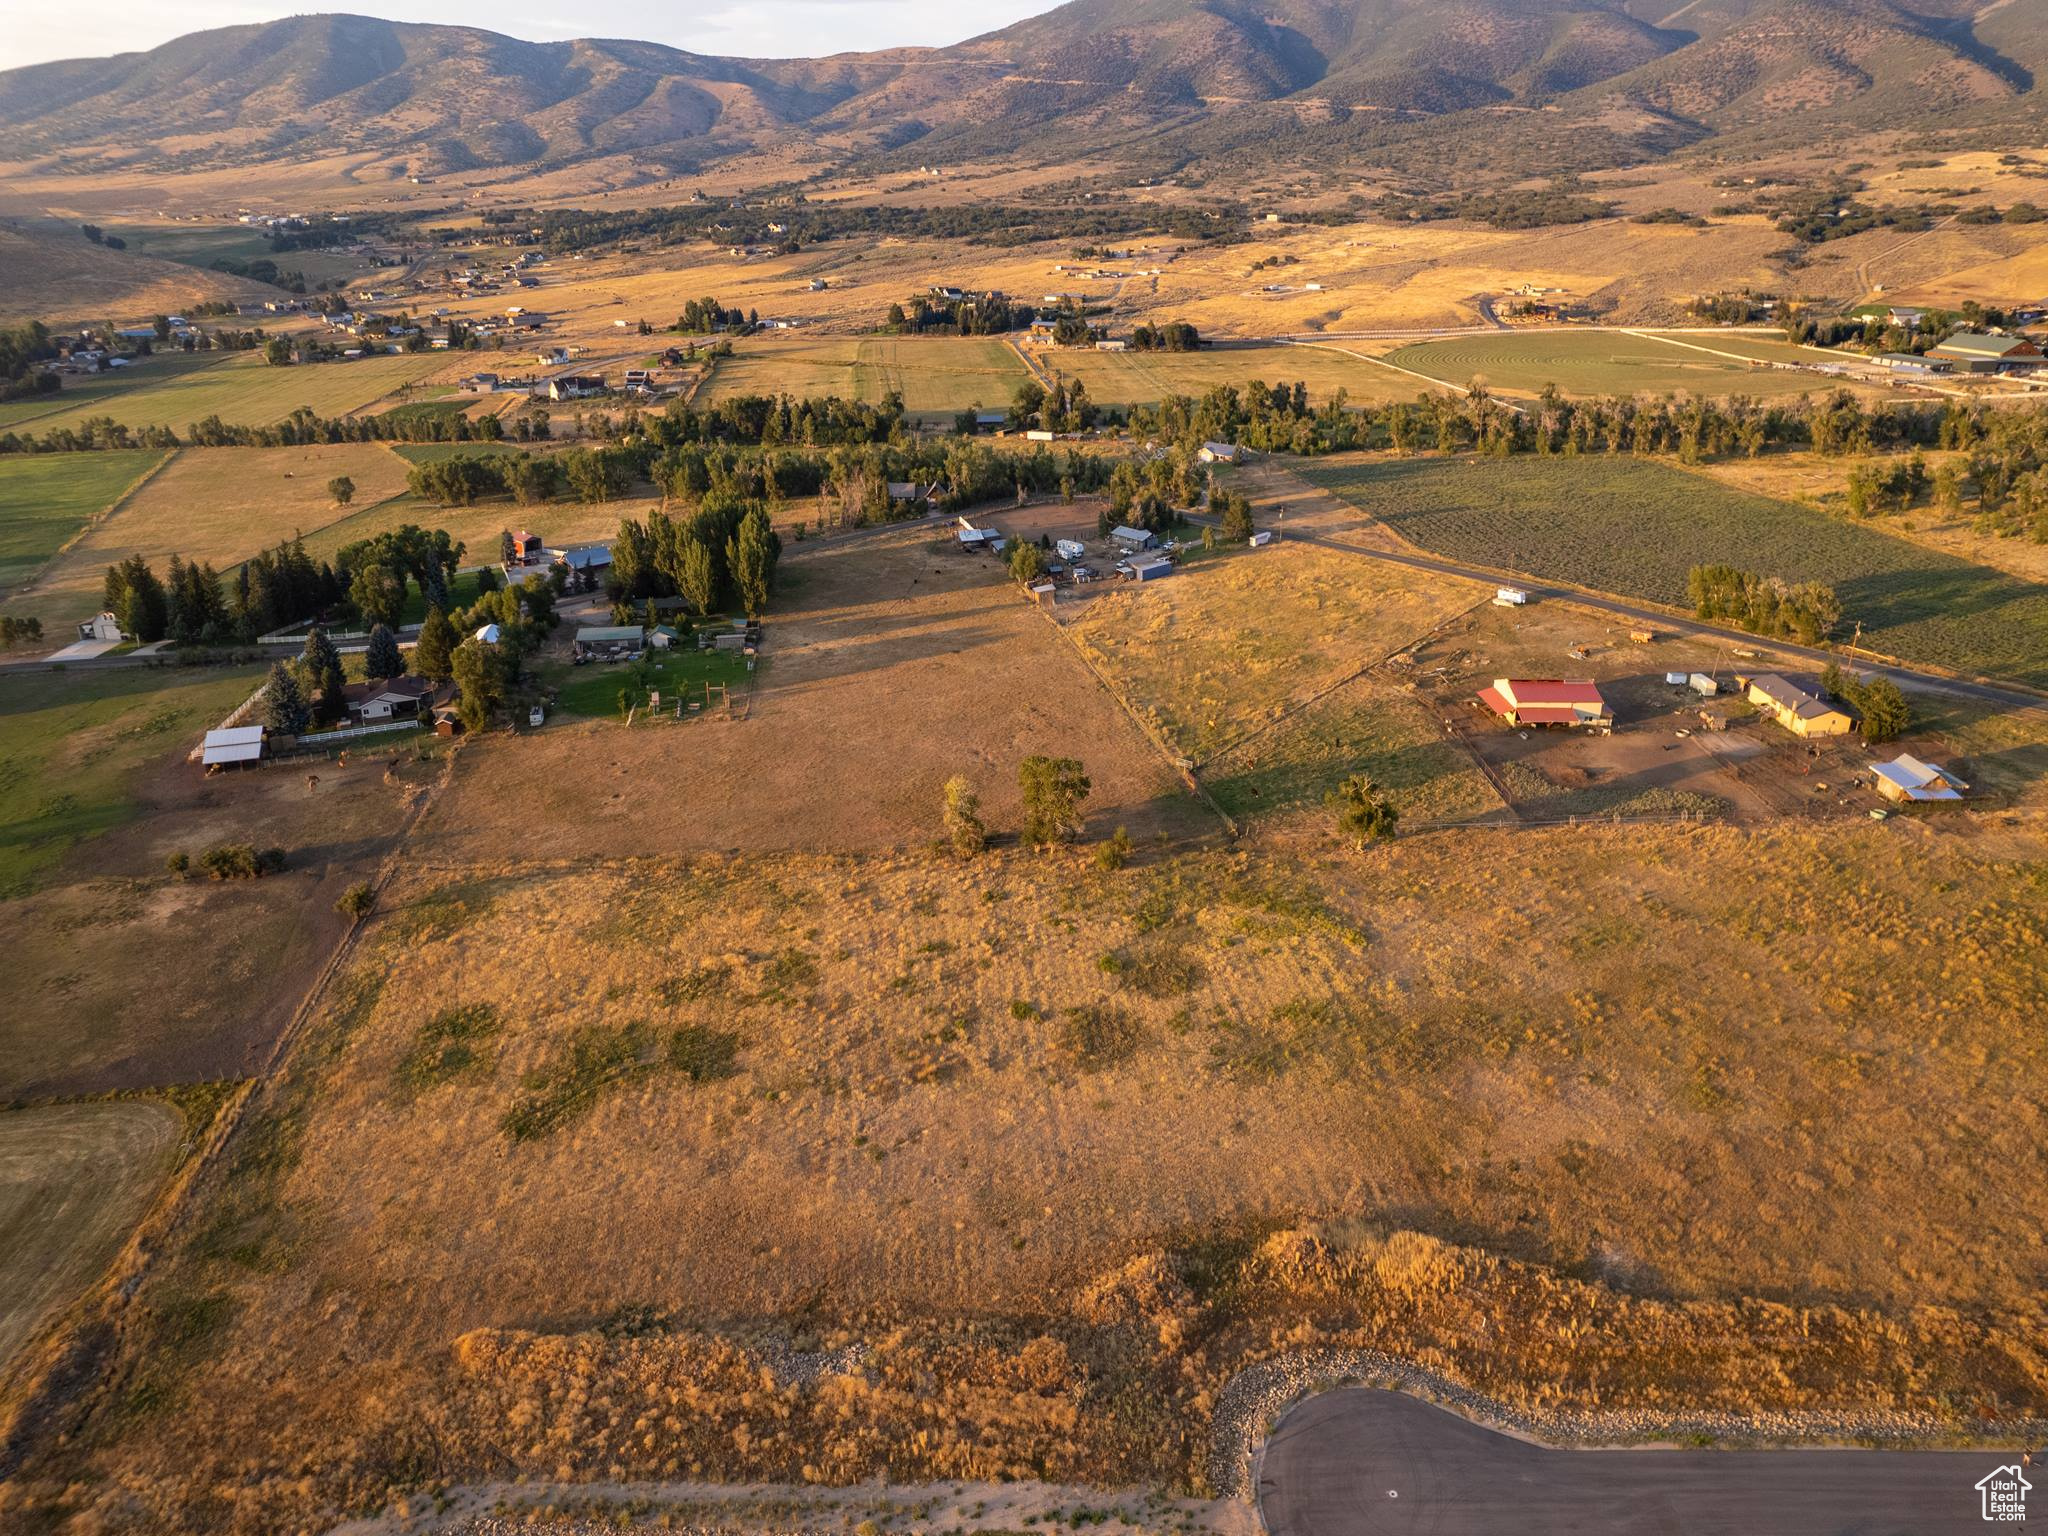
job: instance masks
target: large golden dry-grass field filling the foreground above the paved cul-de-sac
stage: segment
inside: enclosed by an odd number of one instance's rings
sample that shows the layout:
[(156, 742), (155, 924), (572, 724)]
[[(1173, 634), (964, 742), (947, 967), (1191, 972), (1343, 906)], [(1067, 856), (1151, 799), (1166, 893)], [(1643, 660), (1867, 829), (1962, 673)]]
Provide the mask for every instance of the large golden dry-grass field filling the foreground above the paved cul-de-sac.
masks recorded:
[(160, 1532), (1202, 1487), (1229, 1372), (1315, 1343), (1544, 1409), (2040, 1411), (2044, 936), (1919, 825), (416, 862), (39, 1470)]

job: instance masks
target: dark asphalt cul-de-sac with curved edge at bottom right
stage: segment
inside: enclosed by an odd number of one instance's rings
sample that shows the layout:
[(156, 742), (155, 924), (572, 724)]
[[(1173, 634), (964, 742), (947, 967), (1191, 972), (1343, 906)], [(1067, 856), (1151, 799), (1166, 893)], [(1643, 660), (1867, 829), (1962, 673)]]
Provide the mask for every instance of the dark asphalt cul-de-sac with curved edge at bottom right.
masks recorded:
[[(1548, 1450), (1401, 1393), (1348, 1386), (1280, 1419), (1272, 1536), (1960, 1536), (1999, 1530), (1964, 1450)], [(2048, 1479), (2040, 1458), (2028, 1481)], [(2011, 1528), (2011, 1526), (2007, 1526)]]

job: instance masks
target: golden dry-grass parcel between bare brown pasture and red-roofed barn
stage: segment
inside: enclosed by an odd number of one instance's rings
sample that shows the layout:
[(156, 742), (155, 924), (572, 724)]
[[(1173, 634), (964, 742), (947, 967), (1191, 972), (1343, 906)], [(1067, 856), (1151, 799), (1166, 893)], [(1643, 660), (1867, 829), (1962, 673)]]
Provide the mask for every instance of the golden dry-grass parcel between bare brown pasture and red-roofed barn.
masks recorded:
[(1061, 604), (1067, 635), (1196, 764), (1485, 602), (1311, 545), (1196, 559)]

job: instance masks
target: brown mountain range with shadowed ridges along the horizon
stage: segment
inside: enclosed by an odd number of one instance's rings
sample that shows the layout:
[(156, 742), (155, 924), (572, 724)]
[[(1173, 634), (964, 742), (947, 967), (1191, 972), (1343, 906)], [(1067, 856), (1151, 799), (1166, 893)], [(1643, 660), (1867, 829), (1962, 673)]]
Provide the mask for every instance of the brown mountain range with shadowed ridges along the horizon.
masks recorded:
[(1292, 150), (1526, 172), (1710, 139), (1995, 137), (2042, 121), (2040, 68), (2048, 0), (1071, 0), (952, 47), (823, 59), (319, 14), (4, 72), (0, 158), (444, 174)]

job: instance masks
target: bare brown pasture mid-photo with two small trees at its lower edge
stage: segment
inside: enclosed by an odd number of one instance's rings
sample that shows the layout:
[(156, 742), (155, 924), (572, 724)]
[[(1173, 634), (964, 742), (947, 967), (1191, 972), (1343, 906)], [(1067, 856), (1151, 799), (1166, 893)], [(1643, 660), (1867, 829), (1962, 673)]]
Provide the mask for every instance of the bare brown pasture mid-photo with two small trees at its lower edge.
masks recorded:
[(416, 856), (584, 858), (877, 850), (936, 836), (967, 774), (995, 829), (1018, 762), (1075, 756), (1087, 836), (1200, 836), (1217, 821), (987, 557), (915, 526), (791, 545), (741, 719), (549, 725), (465, 752)]

